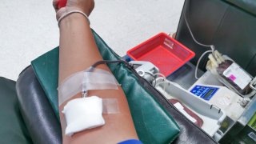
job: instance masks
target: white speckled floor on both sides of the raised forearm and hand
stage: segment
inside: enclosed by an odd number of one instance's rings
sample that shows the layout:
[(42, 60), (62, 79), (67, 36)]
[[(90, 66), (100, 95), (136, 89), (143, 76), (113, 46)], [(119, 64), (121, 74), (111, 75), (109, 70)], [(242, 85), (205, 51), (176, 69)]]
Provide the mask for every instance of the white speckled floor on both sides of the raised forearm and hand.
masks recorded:
[[(91, 27), (118, 54), (177, 30), (184, 0), (95, 0)], [(16, 80), (30, 61), (58, 46), (51, 0), (2, 0), (0, 76)]]

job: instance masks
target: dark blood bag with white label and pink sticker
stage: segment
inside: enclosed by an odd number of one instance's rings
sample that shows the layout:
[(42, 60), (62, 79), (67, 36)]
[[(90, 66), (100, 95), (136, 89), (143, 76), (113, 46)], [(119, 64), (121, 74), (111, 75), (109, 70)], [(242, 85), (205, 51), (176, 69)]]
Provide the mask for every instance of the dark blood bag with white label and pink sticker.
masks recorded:
[(215, 58), (209, 55), (210, 60), (207, 62), (206, 69), (218, 78), (230, 90), (245, 98), (250, 98), (256, 92), (250, 87), (253, 77), (243, 70), (234, 60), (226, 55), (216, 53)]

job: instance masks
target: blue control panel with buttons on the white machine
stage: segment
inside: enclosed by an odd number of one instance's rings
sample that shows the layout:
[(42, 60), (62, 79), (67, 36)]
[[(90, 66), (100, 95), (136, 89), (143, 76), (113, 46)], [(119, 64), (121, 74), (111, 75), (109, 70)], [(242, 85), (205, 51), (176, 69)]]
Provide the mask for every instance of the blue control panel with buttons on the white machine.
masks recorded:
[(206, 101), (209, 101), (210, 98), (212, 98), (217, 92), (217, 90), (217, 87), (196, 85), (192, 90), (190, 90), (190, 92)]

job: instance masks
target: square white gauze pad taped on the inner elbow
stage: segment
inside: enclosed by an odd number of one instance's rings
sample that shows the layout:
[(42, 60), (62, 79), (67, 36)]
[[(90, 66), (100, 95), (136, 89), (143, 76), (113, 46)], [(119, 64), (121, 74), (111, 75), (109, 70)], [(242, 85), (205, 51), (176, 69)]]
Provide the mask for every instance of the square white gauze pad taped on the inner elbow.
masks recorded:
[(102, 98), (97, 96), (73, 99), (64, 106), (62, 113), (66, 118), (66, 135), (71, 136), (105, 124), (102, 117)]

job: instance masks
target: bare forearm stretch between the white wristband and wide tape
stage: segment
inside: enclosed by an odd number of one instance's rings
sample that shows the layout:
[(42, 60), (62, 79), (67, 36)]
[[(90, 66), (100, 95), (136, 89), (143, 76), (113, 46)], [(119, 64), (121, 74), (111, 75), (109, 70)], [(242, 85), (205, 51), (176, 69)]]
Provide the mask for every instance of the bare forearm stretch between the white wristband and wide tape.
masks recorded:
[(59, 82), (99, 60), (102, 56), (86, 18), (78, 13), (64, 18), (60, 22)]

